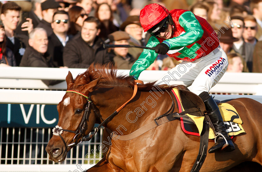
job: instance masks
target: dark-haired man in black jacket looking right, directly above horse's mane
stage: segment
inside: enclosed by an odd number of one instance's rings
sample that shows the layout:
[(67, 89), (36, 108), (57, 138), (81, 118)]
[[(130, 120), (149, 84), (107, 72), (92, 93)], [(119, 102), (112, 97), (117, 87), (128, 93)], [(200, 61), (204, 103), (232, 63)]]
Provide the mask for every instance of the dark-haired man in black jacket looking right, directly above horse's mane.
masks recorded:
[(70, 40), (64, 48), (64, 65), (70, 68), (88, 68), (91, 63), (105, 64), (110, 62), (107, 50), (98, 37), (100, 21), (88, 17), (83, 23), (81, 35)]

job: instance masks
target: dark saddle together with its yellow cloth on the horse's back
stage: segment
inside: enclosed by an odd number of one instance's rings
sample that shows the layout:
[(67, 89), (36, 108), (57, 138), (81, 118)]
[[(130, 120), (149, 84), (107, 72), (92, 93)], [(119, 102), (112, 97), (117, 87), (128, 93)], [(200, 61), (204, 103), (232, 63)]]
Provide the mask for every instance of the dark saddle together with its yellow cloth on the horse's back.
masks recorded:
[[(199, 133), (201, 133), (202, 131), (203, 121), (205, 120), (205, 117), (203, 117), (201, 114), (206, 110), (204, 102), (196, 94), (184, 89), (180, 90), (179, 88), (173, 88), (172, 93), (175, 95), (177, 99), (179, 112), (182, 112), (190, 108), (201, 109), (201, 112), (198, 111), (186, 114), (189, 117), (188, 119), (181, 118), (181, 127), (185, 133), (200, 136)], [(233, 137), (242, 132), (245, 132), (245, 130), (241, 126), (243, 122), (236, 109), (228, 103), (221, 103), (219, 100), (216, 100), (216, 103), (219, 107), (228, 135)], [(213, 132), (213, 130), (210, 129), (209, 139), (214, 138), (215, 133)]]

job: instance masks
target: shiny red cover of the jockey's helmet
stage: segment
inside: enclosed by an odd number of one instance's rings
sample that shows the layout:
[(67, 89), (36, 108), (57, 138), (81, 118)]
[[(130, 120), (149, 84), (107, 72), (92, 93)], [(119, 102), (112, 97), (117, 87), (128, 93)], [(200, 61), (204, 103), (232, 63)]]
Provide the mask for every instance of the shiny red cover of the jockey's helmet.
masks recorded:
[[(165, 18), (168, 16), (168, 12), (169, 11), (165, 7), (156, 3), (146, 5), (140, 11), (140, 23), (144, 32), (156, 26), (158, 23), (163, 25), (163, 21), (165, 21)], [(159, 27), (161, 28), (161, 26)]]

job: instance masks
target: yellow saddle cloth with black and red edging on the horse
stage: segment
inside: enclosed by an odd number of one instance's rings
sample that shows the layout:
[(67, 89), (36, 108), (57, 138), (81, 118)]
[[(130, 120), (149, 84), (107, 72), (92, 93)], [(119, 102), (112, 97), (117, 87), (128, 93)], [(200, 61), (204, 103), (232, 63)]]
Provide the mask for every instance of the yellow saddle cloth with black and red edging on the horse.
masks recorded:
[[(172, 92), (177, 99), (179, 113), (180, 113), (184, 111), (184, 109), (181, 103), (181, 98), (178, 94), (178, 89), (173, 88)], [(240, 116), (237, 113), (236, 109), (232, 105), (228, 103), (221, 103), (218, 105), (218, 107), (221, 112), (221, 116), (223, 118), (223, 121), (226, 127), (226, 131), (229, 136), (233, 137), (242, 132), (245, 132), (245, 130), (241, 126), (243, 122), (240, 119)], [(200, 136), (199, 133), (201, 133), (202, 131), (203, 122), (204, 122), (205, 117), (203, 116), (197, 117), (197, 116), (190, 115), (190, 114), (186, 114), (186, 115), (189, 117), (189, 119), (181, 118), (182, 130), (187, 134)], [(214, 139), (214, 138), (215, 138), (215, 133), (210, 128), (209, 129), (209, 139)]]

